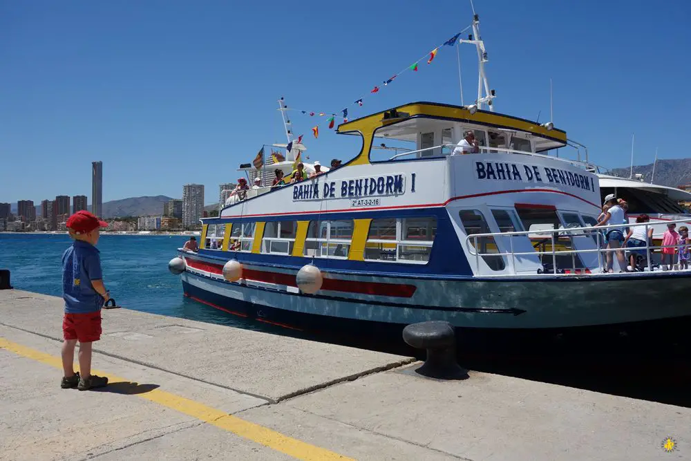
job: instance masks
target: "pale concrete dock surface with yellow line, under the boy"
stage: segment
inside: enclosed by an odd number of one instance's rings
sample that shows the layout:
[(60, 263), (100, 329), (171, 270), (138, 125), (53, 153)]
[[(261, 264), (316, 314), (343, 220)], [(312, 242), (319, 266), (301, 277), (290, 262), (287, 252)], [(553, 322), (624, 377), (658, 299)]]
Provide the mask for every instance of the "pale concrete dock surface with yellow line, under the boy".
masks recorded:
[(61, 389), (62, 306), (0, 291), (0, 460), (691, 459), (691, 408), (126, 309)]

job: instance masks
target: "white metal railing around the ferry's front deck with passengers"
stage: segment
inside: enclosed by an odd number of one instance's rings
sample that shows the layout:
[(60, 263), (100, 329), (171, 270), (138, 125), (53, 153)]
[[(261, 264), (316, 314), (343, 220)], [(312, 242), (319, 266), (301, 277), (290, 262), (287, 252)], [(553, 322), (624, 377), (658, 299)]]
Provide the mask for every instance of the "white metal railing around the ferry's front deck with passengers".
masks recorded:
[[(686, 223), (687, 220), (683, 219), (677, 219), (677, 220), (669, 220), (667, 221), (668, 224), (679, 224), (679, 223)], [(560, 227), (558, 229), (533, 229), (529, 231), (515, 231), (515, 232), (489, 232), (489, 233), (482, 233), (482, 234), (470, 234), (466, 236), (465, 239), (465, 244), (466, 244), (466, 249), (468, 250), (468, 254), (471, 256), (475, 256), (475, 275), (477, 276), (478, 274), (481, 274), (482, 276), (513, 276), (518, 274), (517, 271), (517, 266), (516, 266), (516, 257), (517, 256), (537, 256), (540, 263), (542, 263), (542, 269), (538, 269), (538, 274), (549, 274), (549, 275), (564, 275), (564, 276), (569, 276), (569, 275), (584, 275), (584, 274), (602, 274), (605, 273), (605, 267), (607, 267), (607, 254), (612, 253), (612, 252), (632, 252), (632, 250), (636, 252), (644, 251), (645, 250), (645, 261), (646, 261), (646, 266), (643, 268), (643, 270), (647, 270), (649, 272), (652, 272), (653, 270), (653, 263), (652, 263), (652, 256), (658, 252), (661, 252), (661, 250), (665, 248), (674, 248), (678, 249), (679, 245), (652, 245), (652, 242), (650, 240), (652, 239), (647, 239), (645, 242), (645, 246), (641, 247), (618, 247), (618, 248), (607, 248), (605, 247), (605, 234), (609, 229), (626, 229), (632, 228), (632, 227), (639, 227), (639, 226), (647, 226), (647, 227), (652, 227), (652, 223), (622, 223), (622, 224), (613, 224), (613, 225), (603, 225), (603, 226), (589, 226), (589, 227)], [(646, 236), (647, 236), (647, 230), (646, 230)], [(624, 235), (626, 236), (627, 232), (624, 232)], [(514, 251), (513, 248), (513, 238), (512, 237), (518, 237), (518, 236), (526, 236), (527, 238), (539, 238), (539, 236), (542, 235), (547, 235), (548, 237), (542, 239), (541, 241), (538, 242), (537, 245), (533, 245), (533, 251), (529, 252), (516, 252)], [(579, 238), (579, 237), (594, 237), (596, 240), (596, 248), (586, 248), (582, 250), (575, 250), (574, 248), (574, 238)], [(488, 241), (492, 241), (494, 245), (497, 244), (500, 239), (506, 239), (509, 241), (509, 251), (508, 252), (500, 252), (500, 251), (495, 251), (495, 252), (479, 252), (477, 251), (477, 248), (480, 248), (482, 246), (482, 243), (487, 243)], [(563, 238), (568, 238), (569, 239), (569, 245), (562, 245), (560, 242)], [(478, 246), (478, 241), (480, 241), (481, 245)], [(549, 241), (549, 250), (546, 250), (547, 243)], [(531, 240), (531, 244), (532, 244)], [(538, 249), (538, 246), (542, 244), (542, 250)], [(557, 248), (559, 246), (567, 246), (566, 250), (558, 250)], [(498, 246), (496, 246), (497, 250), (500, 250)], [(569, 249), (570, 248), (570, 249)], [(597, 254), (598, 255), (598, 263), (597, 265), (585, 265), (583, 264), (583, 261), (578, 261), (580, 264), (577, 264), (577, 258), (579, 254)], [(511, 258), (511, 268), (513, 268), (513, 273), (501, 273), (501, 274), (483, 274), (481, 272), (481, 266), (480, 266), (480, 261), (484, 260), (484, 258), (489, 257), (489, 258), (495, 258), (497, 256), (504, 257), (507, 256), (507, 258)], [(571, 256), (571, 267), (559, 267), (557, 264), (557, 259), (562, 258), (562, 256)], [(614, 254), (612, 254), (612, 258), (614, 261)], [(551, 264), (547, 263), (545, 264), (545, 261), (551, 261)], [(674, 258), (672, 258), (672, 264), (674, 264)], [(551, 266), (551, 267), (550, 267)], [(627, 262), (628, 266), (628, 262)], [(520, 269), (520, 267), (518, 267)], [(622, 271), (627, 271), (627, 267), (620, 267)], [(632, 267), (632, 270), (634, 268)]]

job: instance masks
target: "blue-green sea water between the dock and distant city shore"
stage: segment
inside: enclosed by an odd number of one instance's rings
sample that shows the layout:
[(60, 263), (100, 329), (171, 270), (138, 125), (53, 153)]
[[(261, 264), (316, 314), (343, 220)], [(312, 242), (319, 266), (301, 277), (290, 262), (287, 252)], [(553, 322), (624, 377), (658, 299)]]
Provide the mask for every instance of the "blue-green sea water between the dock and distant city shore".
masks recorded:
[[(189, 237), (102, 234), (103, 279), (117, 305), (153, 314), (274, 331), (264, 323), (235, 317), (185, 298), (180, 276), (168, 271)], [(0, 234), (0, 269), (9, 269), (12, 286), (62, 297), (62, 254), (72, 240), (66, 234)], [(58, 306), (56, 306), (57, 308)]]

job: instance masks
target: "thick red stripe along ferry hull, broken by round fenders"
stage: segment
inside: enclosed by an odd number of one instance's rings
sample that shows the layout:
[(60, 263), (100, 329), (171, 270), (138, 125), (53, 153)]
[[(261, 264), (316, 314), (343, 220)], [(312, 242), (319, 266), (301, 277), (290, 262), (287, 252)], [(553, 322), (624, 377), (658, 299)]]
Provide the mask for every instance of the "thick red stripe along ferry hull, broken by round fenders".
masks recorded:
[[(189, 267), (193, 267), (194, 269), (210, 272), (211, 274), (223, 275), (223, 265), (205, 263), (204, 261), (191, 258), (185, 258), (185, 261), (187, 261)], [(245, 269), (243, 267), (243, 279), (297, 287), (295, 276), (293, 274), (283, 274), (282, 272), (267, 272), (263, 270)], [(399, 298), (413, 297), (416, 288), (415, 285), (406, 285), (404, 283), (361, 282), (354, 280), (328, 279), (326, 277), (321, 285), (322, 290), (374, 294), (376, 296)]]

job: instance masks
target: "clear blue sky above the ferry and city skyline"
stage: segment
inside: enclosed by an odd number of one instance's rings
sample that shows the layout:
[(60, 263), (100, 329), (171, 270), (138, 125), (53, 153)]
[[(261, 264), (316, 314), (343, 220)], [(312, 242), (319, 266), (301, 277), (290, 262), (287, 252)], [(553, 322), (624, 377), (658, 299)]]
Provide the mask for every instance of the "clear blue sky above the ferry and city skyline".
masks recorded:
[[(684, 1), (475, 0), (497, 110), (549, 117), (605, 167), (691, 156), (691, 6)], [(458, 104), (464, 1), (0, 1), (0, 201), (86, 194), (180, 197), (238, 178), (261, 144), (285, 142), (276, 100), (350, 118), (415, 100)], [(461, 48), (464, 95), (475, 49)], [(310, 160), (352, 158), (359, 140), (291, 116)], [(338, 120), (338, 119), (337, 119)], [(566, 152), (564, 152), (566, 153)]]

